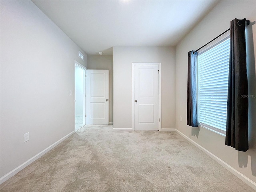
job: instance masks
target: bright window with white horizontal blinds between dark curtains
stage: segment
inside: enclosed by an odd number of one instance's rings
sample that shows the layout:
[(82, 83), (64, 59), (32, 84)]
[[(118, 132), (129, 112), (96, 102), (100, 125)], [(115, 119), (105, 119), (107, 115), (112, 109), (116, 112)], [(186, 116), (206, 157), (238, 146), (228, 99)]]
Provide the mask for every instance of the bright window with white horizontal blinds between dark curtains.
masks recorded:
[(198, 123), (226, 132), (230, 38), (198, 53)]

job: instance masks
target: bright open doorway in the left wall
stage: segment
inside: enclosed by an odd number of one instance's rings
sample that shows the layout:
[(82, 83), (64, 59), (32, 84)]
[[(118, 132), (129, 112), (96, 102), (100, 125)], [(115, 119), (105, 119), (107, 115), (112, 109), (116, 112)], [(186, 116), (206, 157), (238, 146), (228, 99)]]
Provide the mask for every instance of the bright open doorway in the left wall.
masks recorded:
[(75, 61), (75, 131), (85, 126), (85, 70)]

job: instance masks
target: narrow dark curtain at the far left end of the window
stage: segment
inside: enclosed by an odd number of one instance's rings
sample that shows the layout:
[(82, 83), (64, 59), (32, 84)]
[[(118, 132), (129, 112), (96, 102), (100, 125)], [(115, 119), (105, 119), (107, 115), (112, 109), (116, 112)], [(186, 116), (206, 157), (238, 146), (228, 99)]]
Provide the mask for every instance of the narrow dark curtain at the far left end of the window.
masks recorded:
[(187, 125), (197, 127), (197, 52), (188, 52)]

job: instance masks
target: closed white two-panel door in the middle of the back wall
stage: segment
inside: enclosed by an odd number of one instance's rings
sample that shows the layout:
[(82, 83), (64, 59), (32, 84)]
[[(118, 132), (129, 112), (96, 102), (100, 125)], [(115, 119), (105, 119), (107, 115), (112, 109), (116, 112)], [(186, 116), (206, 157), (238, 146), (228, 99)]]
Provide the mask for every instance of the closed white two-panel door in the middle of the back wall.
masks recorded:
[(159, 130), (158, 65), (134, 66), (134, 128)]

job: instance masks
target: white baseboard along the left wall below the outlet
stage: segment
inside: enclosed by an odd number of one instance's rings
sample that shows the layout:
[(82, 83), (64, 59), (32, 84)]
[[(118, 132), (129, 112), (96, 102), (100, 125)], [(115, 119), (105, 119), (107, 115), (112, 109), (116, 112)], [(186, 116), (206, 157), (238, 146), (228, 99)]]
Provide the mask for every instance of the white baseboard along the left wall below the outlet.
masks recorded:
[(66, 138), (70, 137), (72, 134), (74, 134), (75, 131), (72, 131), (71, 133), (67, 134), (66, 136), (62, 137), (60, 140), (56, 141), (54, 144), (50, 145), (48, 148), (42, 150), (41, 152), (39, 152), (38, 154), (36, 154), (35, 156), (33, 156), (32, 158), (30, 158), (29, 160), (27, 160), (26, 162), (22, 163), (20, 166), (16, 167), (15, 169), (13, 169), (12, 171), (8, 172), (7, 174), (5, 174), (4, 176), (2, 176), (0, 178), (0, 184), (2, 184), (3, 182), (5, 182), (6, 180), (10, 179), (12, 176), (14, 176), (15, 174), (17, 174), (18, 172), (20, 172), (22, 169), (24, 169), (26, 166), (28, 166), (29, 164), (31, 164), (32, 162), (34, 162), (35, 160), (37, 160), (38, 158), (40, 158), (42, 155), (46, 154), (48, 151), (50, 151), (52, 148), (54, 148), (55, 146), (57, 146), (58, 144), (60, 144), (62, 141), (64, 141)]

